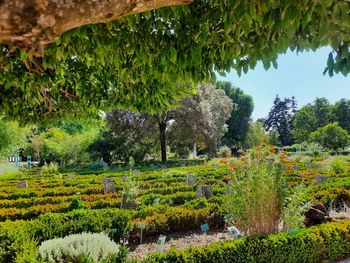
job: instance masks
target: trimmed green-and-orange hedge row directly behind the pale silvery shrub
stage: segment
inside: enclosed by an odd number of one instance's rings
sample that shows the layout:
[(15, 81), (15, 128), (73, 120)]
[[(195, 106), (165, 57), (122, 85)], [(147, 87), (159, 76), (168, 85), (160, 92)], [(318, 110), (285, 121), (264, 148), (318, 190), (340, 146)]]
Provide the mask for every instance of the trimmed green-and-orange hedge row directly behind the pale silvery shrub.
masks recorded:
[(141, 211), (101, 209), (49, 213), (31, 221), (0, 223), (0, 262), (36, 262), (28, 257), (36, 257), (37, 246), (42, 241), (81, 232), (110, 232), (116, 242), (138, 240), (140, 231), (136, 223), (140, 221), (148, 224), (144, 237), (199, 228), (204, 222), (212, 228), (222, 227), (224, 223), (223, 213), (216, 204), (196, 211), (159, 205)]

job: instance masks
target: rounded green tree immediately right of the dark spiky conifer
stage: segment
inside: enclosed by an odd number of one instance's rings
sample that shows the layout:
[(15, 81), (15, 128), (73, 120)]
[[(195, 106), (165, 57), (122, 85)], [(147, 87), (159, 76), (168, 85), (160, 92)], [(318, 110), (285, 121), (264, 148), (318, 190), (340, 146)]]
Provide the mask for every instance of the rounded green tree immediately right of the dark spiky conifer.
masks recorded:
[(326, 98), (316, 98), (297, 111), (293, 122), (293, 136), (298, 143), (306, 141), (318, 128), (335, 120), (333, 106)]

